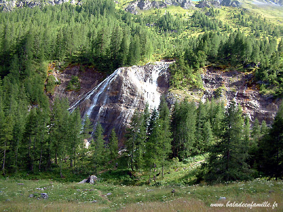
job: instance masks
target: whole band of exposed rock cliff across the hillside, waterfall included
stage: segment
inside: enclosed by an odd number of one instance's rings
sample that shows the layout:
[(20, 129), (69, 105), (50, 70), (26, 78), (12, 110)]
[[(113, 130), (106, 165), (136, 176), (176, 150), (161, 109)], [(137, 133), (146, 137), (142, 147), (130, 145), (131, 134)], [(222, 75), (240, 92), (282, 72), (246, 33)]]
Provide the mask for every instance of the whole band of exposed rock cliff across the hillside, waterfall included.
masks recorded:
[[(180, 91), (168, 91), (170, 63), (156, 62), (119, 68), (108, 77), (87, 67), (81, 71), (80, 66), (68, 67), (63, 72), (53, 71), (55, 77), (61, 80), (54, 96), (67, 96), (71, 103), (69, 110), (79, 107), (81, 116), (89, 116), (94, 129), (97, 122), (102, 124), (106, 136), (115, 127), (119, 140), (123, 141), (135, 109), (143, 110), (146, 103), (150, 108), (158, 107), (162, 93), (167, 94), (167, 101), (171, 105), (184, 99)], [(72, 75), (80, 77), (79, 92), (67, 92), (65, 89)], [(202, 82), (202, 89), (187, 92), (196, 104), (211, 100), (212, 97), (224, 101), (226, 106), (236, 101), (251, 120), (258, 118), (267, 124), (273, 122), (281, 100), (261, 95), (252, 73), (209, 67), (202, 73)]]

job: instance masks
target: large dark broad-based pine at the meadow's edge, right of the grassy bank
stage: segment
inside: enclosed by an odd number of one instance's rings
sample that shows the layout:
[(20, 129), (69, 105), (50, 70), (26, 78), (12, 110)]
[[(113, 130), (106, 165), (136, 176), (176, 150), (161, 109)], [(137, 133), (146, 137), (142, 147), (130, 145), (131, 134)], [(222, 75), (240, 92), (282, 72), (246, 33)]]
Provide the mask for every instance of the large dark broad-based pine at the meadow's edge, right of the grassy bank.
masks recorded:
[(247, 179), (249, 170), (246, 164), (248, 144), (243, 139), (242, 109), (235, 103), (228, 106), (224, 119), (224, 134), (211, 151), (204, 176), (206, 181), (230, 181)]

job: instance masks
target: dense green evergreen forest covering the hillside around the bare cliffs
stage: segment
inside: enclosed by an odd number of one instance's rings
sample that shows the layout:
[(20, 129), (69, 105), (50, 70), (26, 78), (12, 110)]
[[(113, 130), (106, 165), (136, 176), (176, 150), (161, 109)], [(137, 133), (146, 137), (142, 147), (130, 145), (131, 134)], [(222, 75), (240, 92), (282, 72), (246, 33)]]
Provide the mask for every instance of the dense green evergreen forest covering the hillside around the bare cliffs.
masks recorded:
[[(50, 102), (46, 92), (56, 86), (47, 77), (50, 62), (93, 65), (108, 73), (121, 66), (158, 59), (171, 65), (173, 88), (201, 87), (200, 68), (210, 62), (256, 67), (262, 92), (283, 95), (283, 28), (260, 17), (235, 14), (241, 28), (209, 14), (132, 15), (115, 8), (112, 0), (88, 0), (43, 8), (0, 13), (0, 160), (1, 173), (35, 173), (70, 167), (74, 173), (98, 173), (117, 162), (132, 171), (146, 170), (156, 179), (168, 159), (185, 161), (208, 154), (199, 180), (223, 182), (259, 175), (283, 177), (283, 106), (273, 125), (244, 118), (237, 103), (224, 107), (215, 101), (183, 101), (172, 113), (162, 98), (159, 108), (136, 111), (118, 156), (113, 129), (109, 142), (98, 124), (93, 138), (89, 119), (69, 113), (67, 99)], [(187, 17), (186, 17), (187, 16)], [(184, 18), (185, 17), (185, 18)], [(184, 30), (202, 29), (194, 37)], [(75, 90), (78, 79), (72, 79)], [(49, 92), (50, 93), (50, 92)], [(52, 93), (52, 92), (51, 92)], [(92, 140), (89, 149), (84, 140)], [(161, 142), (162, 141), (162, 142)], [(107, 165), (105, 165), (107, 164)], [(65, 169), (66, 172), (66, 169)], [(149, 178), (149, 180), (151, 177)]]

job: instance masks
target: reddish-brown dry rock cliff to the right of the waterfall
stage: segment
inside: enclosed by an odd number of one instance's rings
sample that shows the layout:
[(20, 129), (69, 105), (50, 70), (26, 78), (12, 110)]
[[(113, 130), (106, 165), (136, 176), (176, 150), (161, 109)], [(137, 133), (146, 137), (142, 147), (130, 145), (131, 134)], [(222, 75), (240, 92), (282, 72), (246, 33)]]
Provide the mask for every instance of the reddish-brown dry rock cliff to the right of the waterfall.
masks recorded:
[[(282, 101), (272, 96), (261, 95), (252, 73), (224, 71), (221, 68), (210, 67), (203, 71), (202, 83), (203, 90), (190, 92), (190, 99), (204, 103), (207, 99), (214, 98), (223, 101), (225, 106), (235, 101), (242, 106), (243, 113), (251, 121), (257, 118), (260, 122), (265, 120), (267, 124), (271, 124)], [(168, 93), (167, 96), (171, 104), (184, 98), (176, 93)]]

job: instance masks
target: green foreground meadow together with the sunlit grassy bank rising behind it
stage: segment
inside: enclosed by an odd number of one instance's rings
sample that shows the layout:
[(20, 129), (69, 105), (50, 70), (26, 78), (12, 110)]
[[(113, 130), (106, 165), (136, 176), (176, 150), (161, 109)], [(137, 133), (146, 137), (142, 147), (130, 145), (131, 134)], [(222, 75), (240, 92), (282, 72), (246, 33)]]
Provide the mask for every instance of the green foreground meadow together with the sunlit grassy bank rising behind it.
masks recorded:
[[(214, 203), (263, 203), (278, 205), (283, 211), (283, 181), (257, 178), (245, 182), (226, 182), (218, 185), (195, 184), (203, 156), (187, 163), (172, 161), (156, 182), (148, 184), (149, 173), (129, 170), (108, 170), (98, 175), (95, 184), (78, 184), (83, 178), (68, 181), (53, 179), (0, 179), (0, 211), (7, 212), (205, 212), (205, 211), (271, 211), (272, 207), (252, 209), (210, 207)], [(157, 170), (157, 173), (161, 170)], [(30, 176), (31, 177), (31, 176)], [(43, 177), (43, 176), (42, 176)], [(46, 177), (46, 176), (45, 176)], [(71, 178), (72, 176), (70, 176)], [(68, 178), (67, 178), (68, 179)], [(172, 193), (174, 189), (174, 193)], [(40, 198), (47, 193), (48, 199)], [(111, 193), (111, 195), (107, 195)], [(34, 197), (29, 197), (30, 195)], [(225, 197), (226, 200), (219, 200)]]

